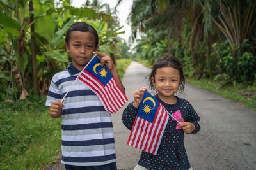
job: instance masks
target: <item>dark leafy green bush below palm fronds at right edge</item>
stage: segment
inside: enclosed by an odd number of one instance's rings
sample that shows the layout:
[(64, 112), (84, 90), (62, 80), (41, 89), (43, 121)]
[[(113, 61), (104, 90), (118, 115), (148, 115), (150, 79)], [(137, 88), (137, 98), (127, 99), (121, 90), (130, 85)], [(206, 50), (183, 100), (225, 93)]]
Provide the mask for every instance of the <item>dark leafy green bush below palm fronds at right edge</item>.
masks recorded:
[(234, 50), (236, 46), (229, 46), (227, 41), (219, 45), (214, 43), (212, 47), (214, 48), (212, 57), (216, 58), (216, 80), (253, 83), (256, 74), (256, 57), (252, 53), (243, 52), (243, 49)]

